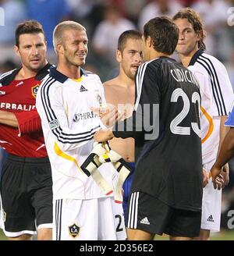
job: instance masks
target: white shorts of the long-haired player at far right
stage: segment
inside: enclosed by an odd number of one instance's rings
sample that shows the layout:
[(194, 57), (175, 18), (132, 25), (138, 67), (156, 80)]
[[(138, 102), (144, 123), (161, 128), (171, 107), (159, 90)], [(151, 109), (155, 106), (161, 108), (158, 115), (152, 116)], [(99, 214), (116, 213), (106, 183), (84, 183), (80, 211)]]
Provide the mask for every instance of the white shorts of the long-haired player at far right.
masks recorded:
[[(207, 172), (210, 172), (214, 163), (215, 161), (208, 162), (203, 167)], [(211, 230), (211, 232), (218, 232), (220, 230), (221, 203), (222, 190), (215, 190), (212, 179), (210, 178), (209, 183), (203, 189), (201, 229)]]

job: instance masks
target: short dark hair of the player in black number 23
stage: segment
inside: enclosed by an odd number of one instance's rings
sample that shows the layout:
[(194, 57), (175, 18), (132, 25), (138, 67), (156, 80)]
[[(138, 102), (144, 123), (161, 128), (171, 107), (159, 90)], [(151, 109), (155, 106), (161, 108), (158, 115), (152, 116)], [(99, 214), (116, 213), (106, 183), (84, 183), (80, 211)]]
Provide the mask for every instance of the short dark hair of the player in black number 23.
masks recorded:
[(154, 49), (168, 55), (176, 49), (179, 29), (171, 19), (161, 16), (148, 21), (144, 25), (144, 38), (151, 37)]

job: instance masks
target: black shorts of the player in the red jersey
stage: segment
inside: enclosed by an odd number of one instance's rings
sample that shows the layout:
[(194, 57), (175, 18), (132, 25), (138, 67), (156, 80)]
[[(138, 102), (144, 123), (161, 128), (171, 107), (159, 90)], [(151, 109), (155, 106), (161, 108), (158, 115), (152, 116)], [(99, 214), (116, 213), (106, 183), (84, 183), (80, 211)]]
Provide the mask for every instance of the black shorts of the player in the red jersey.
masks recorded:
[(2, 169), (1, 196), (8, 236), (32, 233), (52, 223), (52, 179), (48, 158), (9, 155)]

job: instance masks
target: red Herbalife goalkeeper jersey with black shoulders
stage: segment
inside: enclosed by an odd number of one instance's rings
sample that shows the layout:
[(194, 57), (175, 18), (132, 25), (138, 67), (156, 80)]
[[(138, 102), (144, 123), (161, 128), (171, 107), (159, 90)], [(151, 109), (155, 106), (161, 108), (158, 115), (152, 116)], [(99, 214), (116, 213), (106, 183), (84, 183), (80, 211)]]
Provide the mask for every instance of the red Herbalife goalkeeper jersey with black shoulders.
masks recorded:
[(44, 66), (37, 76), (25, 80), (14, 80), (20, 69), (0, 77), (0, 110), (14, 112), (19, 123), (19, 128), (0, 124), (0, 146), (9, 154), (31, 158), (48, 156), (35, 104), (41, 79), (49, 67), (49, 64)]

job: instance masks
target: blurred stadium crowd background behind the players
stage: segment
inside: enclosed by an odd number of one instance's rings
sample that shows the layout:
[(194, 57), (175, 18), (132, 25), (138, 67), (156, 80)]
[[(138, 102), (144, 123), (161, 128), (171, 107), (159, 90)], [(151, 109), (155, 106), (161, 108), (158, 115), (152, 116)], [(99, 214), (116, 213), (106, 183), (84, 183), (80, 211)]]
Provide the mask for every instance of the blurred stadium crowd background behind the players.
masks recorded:
[[(62, 20), (75, 20), (87, 28), (89, 37), (85, 68), (105, 82), (118, 73), (115, 49), (122, 31), (142, 30), (154, 16), (173, 16), (186, 6), (200, 13), (207, 30), (206, 52), (224, 62), (234, 87), (234, 0), (0, 0), (0, 74), (20, 64), (12, 48), (17, 23), (27, 19), (42, 23), (48, 60), (56, 64), (52, 30)], [(173, 57), (178, 59), (176, 54)], [(1, 159), (0, 151), (0, 169)], [(222, 197), (222, 232), (213, 234), (211, 240), (234, 240), (234, 159), (229, 164), (230, 183)], [(0, 240), (5, 240), (2, 230)]]

